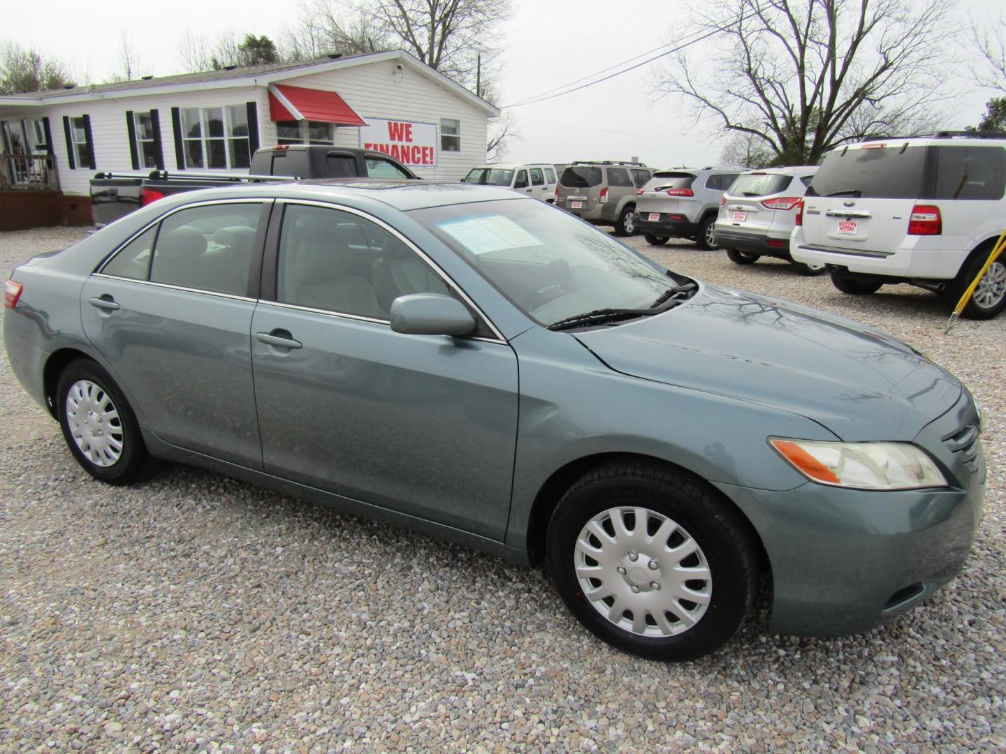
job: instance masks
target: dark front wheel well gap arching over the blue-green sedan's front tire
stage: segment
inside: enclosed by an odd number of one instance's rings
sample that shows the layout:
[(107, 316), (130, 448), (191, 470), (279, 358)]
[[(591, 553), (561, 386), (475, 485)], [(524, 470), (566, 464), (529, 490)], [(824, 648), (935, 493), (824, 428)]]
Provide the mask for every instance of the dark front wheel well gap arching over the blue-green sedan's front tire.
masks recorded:
[(652, 455), (643, 455), (641, 453), (598, 453), (596, 455), (588, 455), (570, 461), (554, 472), (545, 484), (541, 486), (541, 489), (534, 498), (534, 504), (531, 506), (531, 516), (527, 522), (527, 554), (531, 563), (538, 565), (544, 560), (548, 536), (548, 522), (552, 517), (552, 511), (555, 510), (555, 507), (559, 504), (559, 500), (561, 500), (566, 490), (572, 487), (580, 477), (583, 477), (591, 469), (615, 460), (642, 461), (644, 463), (662, 465), (672, 468), (677, 474), (691, 477), (696, 483), (703, 485), (709, 490), (710, 494), (717, 496), (720, 500), (736, 511), (737, 516), (746, 526), (748, 536), (758, 546), (760, 553), (760, 570), (763, 573), (769, 574), (771, 577), (772, 568), (769, 563), (769, 556), (765, 551), (765, 545), (762, 542), (762, 538), (759, 536), (758, 531), (751, 525), (750, 521), (744, 515), (743, 511), (737, 508), (732, 500), (723, 495), (707, 481), (688, 470), (684, 466), (679, 466), (677, 463), (671, 463), (663, 458), (657, 458)]

